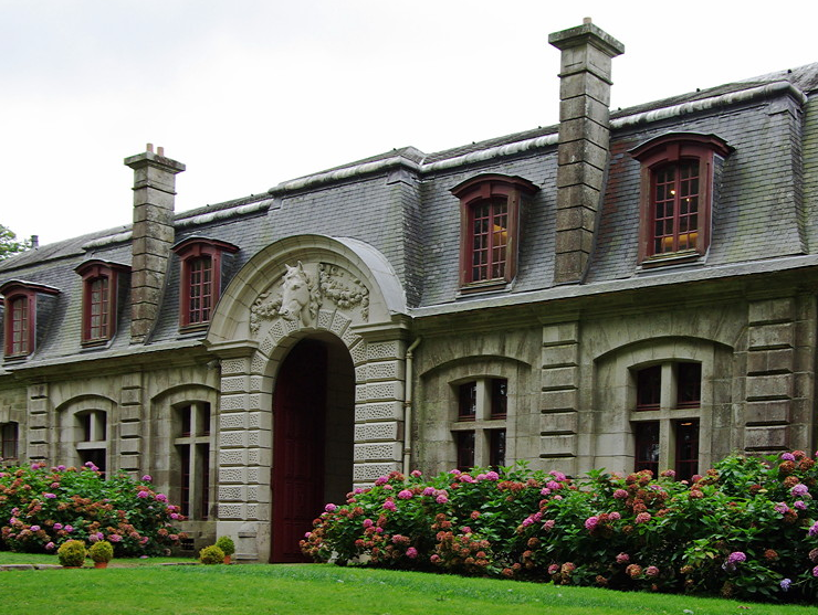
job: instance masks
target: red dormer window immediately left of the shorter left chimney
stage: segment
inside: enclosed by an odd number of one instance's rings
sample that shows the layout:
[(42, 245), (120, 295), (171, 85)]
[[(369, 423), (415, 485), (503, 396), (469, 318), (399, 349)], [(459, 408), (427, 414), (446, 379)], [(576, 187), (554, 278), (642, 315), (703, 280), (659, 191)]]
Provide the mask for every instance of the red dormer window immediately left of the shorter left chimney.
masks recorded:
[(83, 278), (83, 346), (105, 343), (116, 333), (118, 279), (128, 267), (88, 261), (75, 271)]

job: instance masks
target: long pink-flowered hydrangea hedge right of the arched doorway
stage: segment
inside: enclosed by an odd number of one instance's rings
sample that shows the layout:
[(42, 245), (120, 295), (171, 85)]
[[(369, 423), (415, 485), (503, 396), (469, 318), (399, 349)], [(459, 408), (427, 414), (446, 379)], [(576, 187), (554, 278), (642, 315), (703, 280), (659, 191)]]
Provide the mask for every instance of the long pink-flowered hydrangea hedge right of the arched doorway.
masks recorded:
[(328, 503), (302, 541), (316, 561), (619, 590), (818, 598), (818, 468), (796, 450), (573, 480), (525, 465), (391, 473)]

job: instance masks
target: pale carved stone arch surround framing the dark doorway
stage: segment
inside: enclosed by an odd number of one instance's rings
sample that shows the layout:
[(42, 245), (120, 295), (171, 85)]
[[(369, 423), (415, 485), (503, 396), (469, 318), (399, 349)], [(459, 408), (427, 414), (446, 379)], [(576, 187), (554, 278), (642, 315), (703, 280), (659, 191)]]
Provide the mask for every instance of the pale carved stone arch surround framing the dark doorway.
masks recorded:
[(326, 344), (328, 386), (340, 364), (333, 352), (345, 357), (345, 390), (354, 382), (352, 407), (326, 406), (327, 417), (343, 416), (333, 431), (350, 435), (338, 441), (346, 443), (338, 444), (343, 454), (332, 450), (333, 441), (325, 443), (325, 454), (336, 460), (319, 473), (319, 507), (302, 507), (312, 520), (324, 502), (343, 501), (354, 484), (400, 468), (408, 329), (395, 272), (382, 254), (356, 240), (287, 237), (234, 276), (217, 306), (207, 344), (221, 359), (217, 531), (234, 538), (237, 559), (281, 555), (273, 536), (275, 498), (294, 491), (275, 489), (274, 397), (289, 353), (301, 340)]

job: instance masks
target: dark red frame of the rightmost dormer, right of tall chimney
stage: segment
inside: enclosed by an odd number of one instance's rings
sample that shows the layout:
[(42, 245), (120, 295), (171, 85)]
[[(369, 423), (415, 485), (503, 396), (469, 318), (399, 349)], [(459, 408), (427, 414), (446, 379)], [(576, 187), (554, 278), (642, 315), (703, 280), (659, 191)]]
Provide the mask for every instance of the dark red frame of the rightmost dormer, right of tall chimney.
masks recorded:
[[(639, 185), (639, 264), (651, 267), (695, 261), (710, 246), (711, 213), (713, 209), (714, 159), (725, 158), (733, 148), (715, 135), (670, 132), (652, 138), (629, 153), (640, 162)], [(695, 248), (665, 254), (653, 253), (653, 192), (657, 172), (684, 160), (699, 161), (699, 215)]]

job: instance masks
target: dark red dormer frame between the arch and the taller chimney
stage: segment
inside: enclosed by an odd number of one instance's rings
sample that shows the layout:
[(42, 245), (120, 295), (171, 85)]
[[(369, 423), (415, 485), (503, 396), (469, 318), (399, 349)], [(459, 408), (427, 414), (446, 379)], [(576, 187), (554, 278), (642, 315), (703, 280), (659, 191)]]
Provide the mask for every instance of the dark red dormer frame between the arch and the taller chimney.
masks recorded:
[[(531, 181), (517, 176), (483, 173), (468, 179), (451, 189), (460, 200), (460, 290), (475, 293), (504, 288), (516, 275), (517, 253), (520, 252), (520, 213), (523, 199), (537, 192)], [(506, 199), (507, 242), (505, 246), (505, 268), (503, 277), (472, 279), (473, 230), (472, 211), (486, 201)]]

